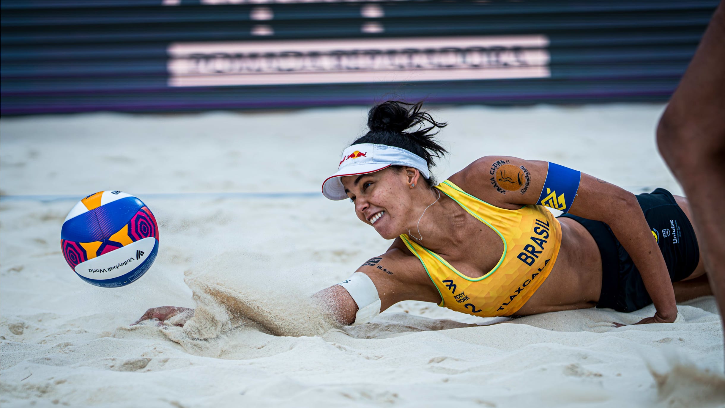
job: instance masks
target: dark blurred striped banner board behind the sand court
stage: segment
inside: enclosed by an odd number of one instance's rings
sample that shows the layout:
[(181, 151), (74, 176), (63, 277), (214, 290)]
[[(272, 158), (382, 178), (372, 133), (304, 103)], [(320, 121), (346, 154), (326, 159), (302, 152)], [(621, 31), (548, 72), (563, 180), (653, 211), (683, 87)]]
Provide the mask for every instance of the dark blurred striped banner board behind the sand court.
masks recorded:
[(1, 113), (665, 101), (717, 0), (4, 0)]

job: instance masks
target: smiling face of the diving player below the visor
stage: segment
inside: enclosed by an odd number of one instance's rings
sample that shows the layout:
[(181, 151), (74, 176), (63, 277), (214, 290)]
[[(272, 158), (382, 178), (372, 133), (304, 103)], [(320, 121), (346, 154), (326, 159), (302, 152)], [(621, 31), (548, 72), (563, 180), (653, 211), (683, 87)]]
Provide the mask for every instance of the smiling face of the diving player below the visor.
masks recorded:
[(410, 209), (413, 208), (405, 171), (385, 168), (360, 176), (345, 176), (342, 184), (355, 203), (355, 214), (386, 240), (407, 232)]

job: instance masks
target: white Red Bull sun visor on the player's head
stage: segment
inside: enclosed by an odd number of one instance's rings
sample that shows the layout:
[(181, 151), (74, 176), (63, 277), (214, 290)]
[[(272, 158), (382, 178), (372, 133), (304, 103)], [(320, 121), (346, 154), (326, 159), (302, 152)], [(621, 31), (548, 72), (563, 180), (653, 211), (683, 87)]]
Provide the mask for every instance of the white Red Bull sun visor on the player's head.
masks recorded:
[(426, 179), (431, 177), (426, 160), (405, 149), (386, 144), (353, 144), (342, 152), (336, 173), (323, 182), (322, 193), (330, 200), (344, 200), (347, 194), (340, 177), (373, 173), (390, 166), (417, 168)]

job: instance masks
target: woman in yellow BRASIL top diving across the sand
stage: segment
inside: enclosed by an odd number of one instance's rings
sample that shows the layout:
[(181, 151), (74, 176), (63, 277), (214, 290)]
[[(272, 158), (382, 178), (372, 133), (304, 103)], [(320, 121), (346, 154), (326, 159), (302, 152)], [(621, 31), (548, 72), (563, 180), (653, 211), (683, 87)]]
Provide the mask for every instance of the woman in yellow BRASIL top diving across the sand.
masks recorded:
[[(385, 239), (383, 254), (316, 296), (344, 325), (369, 322), (399, 301), (438, 303), (481, 317), (655, 304), (640, 323), (674, 322), (680, 300), (709, 293), (684, 197), (665, 189), (633, 195), (556, 163), (486, 156), (437, 184), (430, 168), (446, 153), (421, 110), (388, 101), (344, 150), (323, 183), (349, 199)], [(547, 209), (563, 215), (555, 218)], [(163, 306), (141, 319), (191, 309)], [(177, 322), (183, 322), (183, 319)]]

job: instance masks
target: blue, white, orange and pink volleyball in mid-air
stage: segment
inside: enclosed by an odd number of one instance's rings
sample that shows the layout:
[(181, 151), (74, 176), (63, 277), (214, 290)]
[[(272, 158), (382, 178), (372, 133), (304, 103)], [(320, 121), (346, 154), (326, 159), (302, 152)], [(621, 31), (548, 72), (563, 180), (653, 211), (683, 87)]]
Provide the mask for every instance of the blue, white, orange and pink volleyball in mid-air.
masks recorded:
[(100, 287), (138, 280), (154, 263), (159, 228), (138, 197), (101, 191), (78, 201), (60, 232), (63, 256), (80, 279)]

